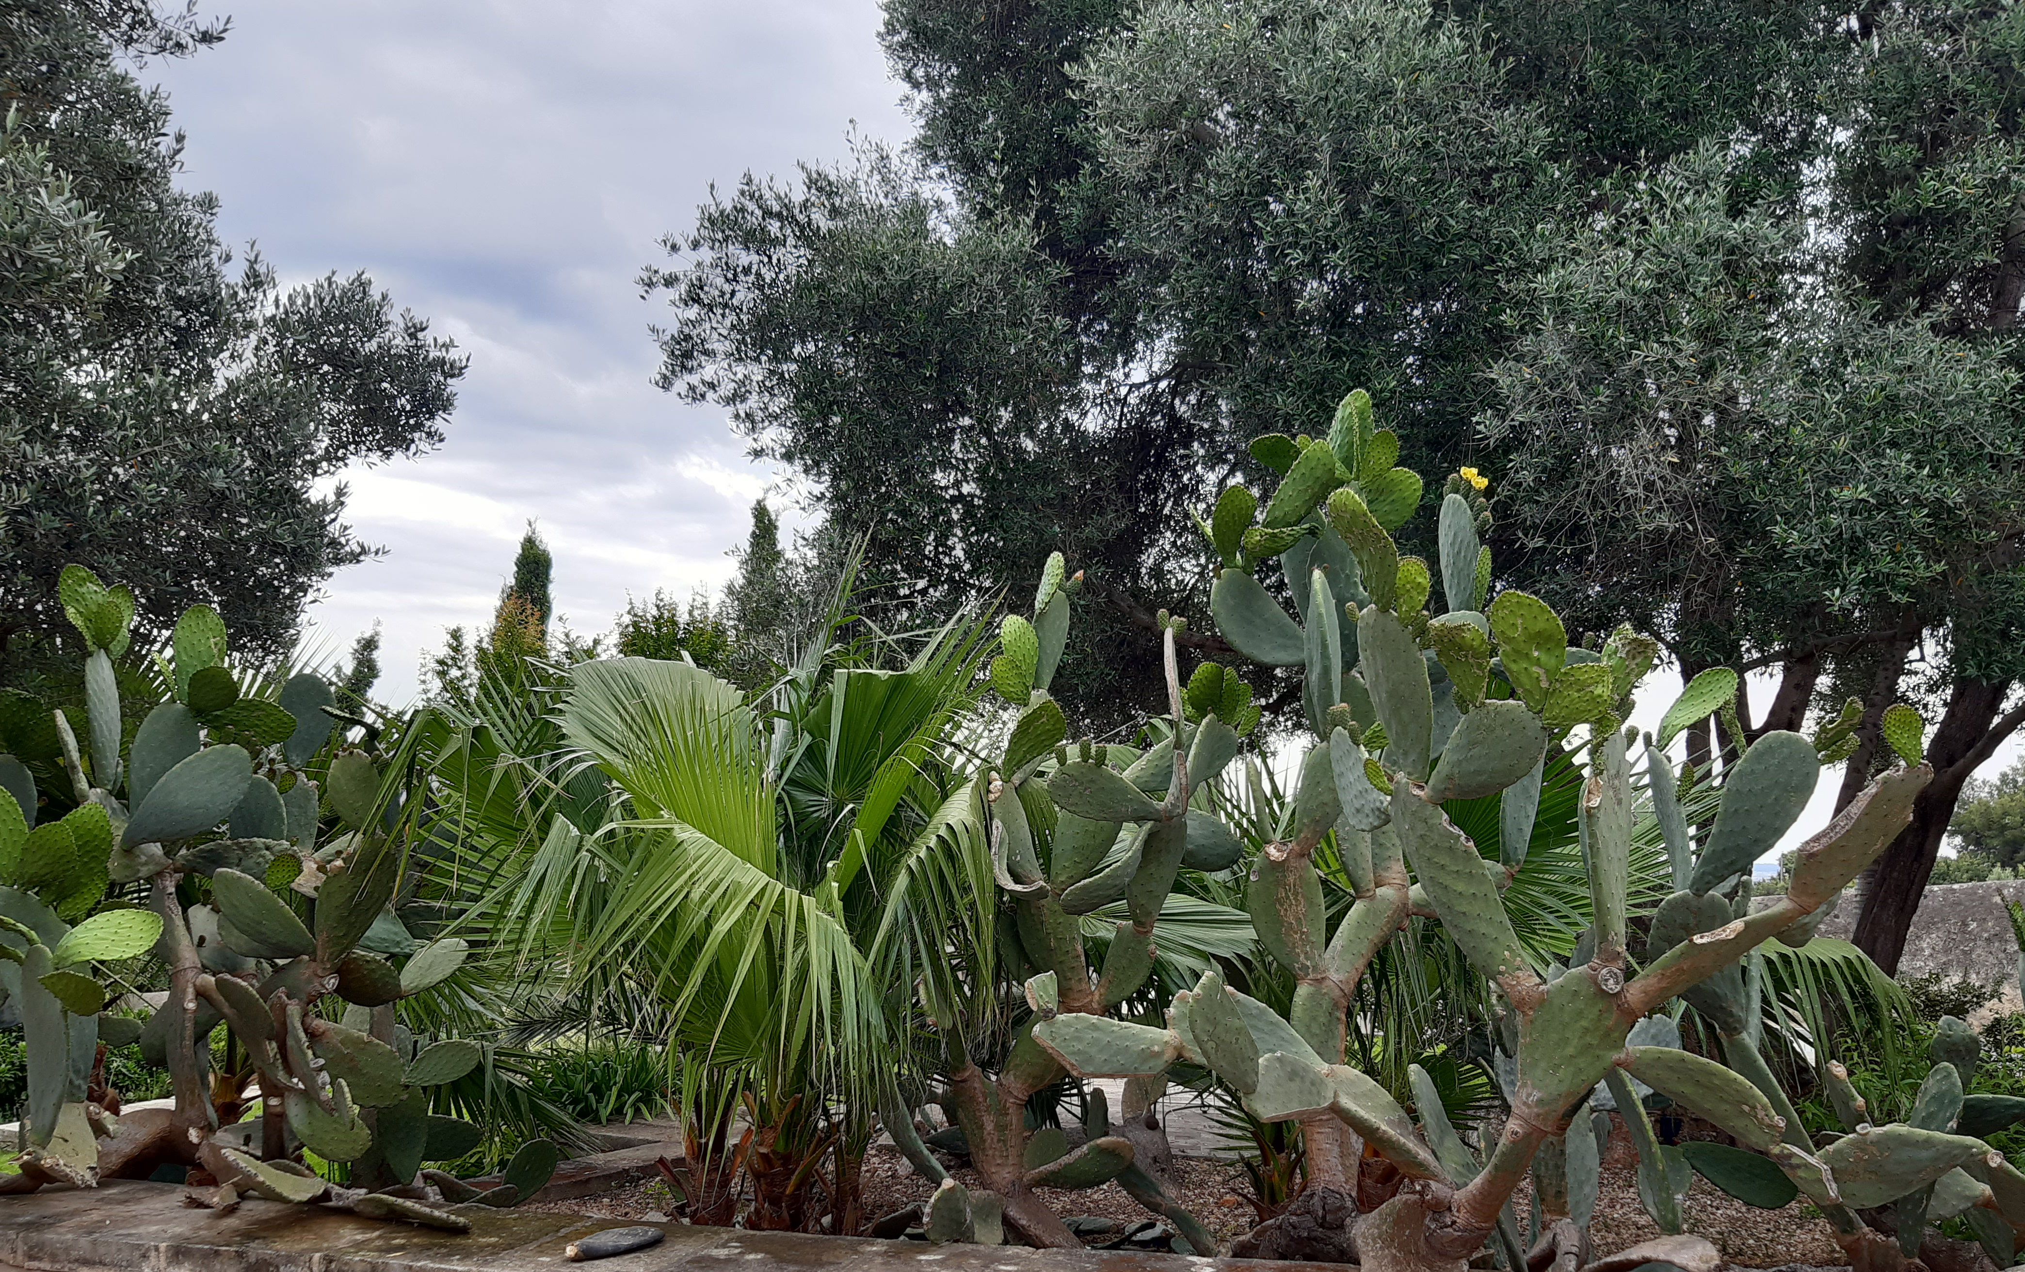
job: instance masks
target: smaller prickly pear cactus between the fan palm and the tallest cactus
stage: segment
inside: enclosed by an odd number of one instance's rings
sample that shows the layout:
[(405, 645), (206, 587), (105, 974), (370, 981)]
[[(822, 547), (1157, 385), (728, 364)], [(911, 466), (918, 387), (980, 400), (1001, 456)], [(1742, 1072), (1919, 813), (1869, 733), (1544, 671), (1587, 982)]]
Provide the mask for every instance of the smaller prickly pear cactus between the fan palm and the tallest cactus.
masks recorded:
[[(1061, 555), (1047, 561), (1033, 620), (1008, 616), (1004, 652), (992, 662), (992, 685), (1021, 709), (1004, 756), (982, 790), (990, 816), (992, 871), (1010, 905), (1023, 962), (1041, 968), (1027, 982), (1033, 1019), (1104, 1019), (1136, 995), (1154, 972), (1154, 924), (1177, 873), (1221, 871), (1237, 863), (1241, 845), (1215, 816), (1189, 806), (1189, 794), (1213, 780), (1239, 747), (1237, 729), (1217, 715), (1245, 713), (1245, 695), (1219, 693), (1191, 723), (1174, 662), (1181, 620), (1162, 616), (1160, 652), (1166, 670), (1166, 739), (1144, 753), (1098, 747), (1087, 739), (1065, 745), (1067, 719), (1049, 697), (1069, 628), (1069, 598), (1081, 577), (1067, 577)], [(1195, 695), (1203, 699), (1201, 693)], [(1256, 711), (1249, 713), (1256, 719)], [(1091, 966), (1083, 916), (1124, 901), (1102, 964)], [(1035, 1092), (1059, 1082), (1063, 1067), (1035, 1043), (1031, 1023), (994, 1071), (972, 1055), (952, 1021), (944, 1021), (948, 1100), (984, 1189), (966, 1191), (946, 1179), (934, 1159), (911, 1144), (903, 1110), (885, 1122), (909, 1146), (913, 1161), (940, 1191), (929, 1205), (932, 1240), (996, 1244), (1002, 1227), (1035, 1246), (1079, 1246), (1035, 1189), (1089, 1189), (1118, 1181), (1164, 1217), (1199, 1254), (1213, 1238), (1140, 1161), (1146, 1126), (1112, 1126), (1102, 1098), (1089, 1102), (1083, 1142), (1069, 1146), (1061, 1130), (1029, 1128)], [(1102, 1096), (1102, 1094), (1098, 1094)]]

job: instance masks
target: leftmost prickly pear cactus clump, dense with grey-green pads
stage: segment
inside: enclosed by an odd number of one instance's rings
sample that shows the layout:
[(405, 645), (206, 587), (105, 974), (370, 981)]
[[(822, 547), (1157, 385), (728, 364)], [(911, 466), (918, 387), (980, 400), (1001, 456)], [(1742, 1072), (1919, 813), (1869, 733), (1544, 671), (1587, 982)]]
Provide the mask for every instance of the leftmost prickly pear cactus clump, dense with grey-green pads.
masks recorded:
[[(470, 1041), (415, 1039), (395, 1003), (454, 974), (466, 946), (423, 946), (389, 907), (407, 822), (381, 798), (371, 756), (332, 753), (330, 689), (296, 674), (271, 701), (245, 693), (225, 666), (225, 624), (196, 606), (162, 660), (172, 699), (148, 711), (122, 753), (109, 660), (128, 646), (132, 595), (81, 567), (63, 571), (61, 591), (89, 652), (89, 751), (53, 715), (75, 808), (34, 824), (43, 798), (32, 772), (0, 760), (0, 986), (24, 1021), (45, 1025), (28, 1029), (28, 1146), (14, 1187), (188, 1165), (219, 1183), (200, 1197), (209, 1205), (255, 1193), (448, 1229), (470, 1223), (443, 1211), (446, 1199), (512, 1205), (539, 1189), (555, 1167), (547, 1142), (529, 1144), (518, 1175), (478, 1197), (421, 1177), (425, 1161), (478, 1146), (478, 1128), (429, 1114), (427, 1092), (482, 1053)], [(342, 826), (334, 837), (322, 834), (324, 804)], [(146, 883), (148, 907), (103, 909), (71, 928), (107, 883)], [(182, 893), (200, 899), (184, 905)], [(101, 1017), (105, 990), (89, 966), (150, 948), (170, 970), (168, 1001), (146, 1025)], [(330, 995), (350, 1005), (342, 1023), (318, 1009)], [(219, 1025), (251, 1074), (211, 1074)], [(101, 1033), (138, 1039), (168, 1067), (174, 1110), (113, 1120), (83, 1104)], [(221, 1126), (215, 1090), (237, 1106), (245, 1082), (257, 1082), (261, 1116)], [(360, 1187), (316, 1179), (296, 1161), (304, 1150), (350, 1163)]]

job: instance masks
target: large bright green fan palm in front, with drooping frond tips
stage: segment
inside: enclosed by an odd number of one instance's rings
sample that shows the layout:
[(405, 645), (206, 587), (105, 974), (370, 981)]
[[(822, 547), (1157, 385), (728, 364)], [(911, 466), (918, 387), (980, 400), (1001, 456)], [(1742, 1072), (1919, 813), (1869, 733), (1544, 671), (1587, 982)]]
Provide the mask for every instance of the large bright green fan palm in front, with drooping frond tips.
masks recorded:
[(911, 1037), (887, 986), (990, 968), (990, 865), (950, 743), (986, 628), (883, 634), (848, 598), (846, 575), (757, 701), (646, 658), (490, 705), (482, 677), (437, 753), (437, 875), (535, 972), (522, 1025), (575, 1013), (660, 1039), (691, 1191), (721, 1221), (743, 1171), (749, 1223), (812, 1225), (820, 1181), (855, 1229), (875, 1086)]

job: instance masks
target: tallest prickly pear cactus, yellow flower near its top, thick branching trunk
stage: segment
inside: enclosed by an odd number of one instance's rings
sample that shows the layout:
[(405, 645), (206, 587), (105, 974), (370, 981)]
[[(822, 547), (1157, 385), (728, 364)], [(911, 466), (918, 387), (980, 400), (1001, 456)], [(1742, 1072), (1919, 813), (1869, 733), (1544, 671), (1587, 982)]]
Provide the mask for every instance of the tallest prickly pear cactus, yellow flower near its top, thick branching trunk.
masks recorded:
[[(1268, 1227), (1253, 1234), (1253, 1254), (1460, 1272), (1503, 1219), (1509, 1260), (1535, 1272), (1640, 1262), (1713, 1268), (1715, 1250), (1699, 1238), (1590, 1260), (1584, 1219), (1596, 1152), (1590, 1118), (1577, 1114), (1606, 1078), (1636, 1078), (1788, 1169), (1816, 1169), (1806, 1148), (1782, 1142), (1800, 1138), (1796, 1120), (1746, 1076), (1679, 1047), (1628, 1045), (1630, 1035), (1677, 995), (1731, 972), (1760, 942), (1804, 932), (1908, 822), (1930, 770), (1879, 776), (1800, 849), (1784, 897), (1756, 913), (1725, 911), (1721, 924), (1695, 930), (1634, 974), (1626, 893), (1630, 756), (1640, 739), (1622, 721), (1654, 644), (1620, 630), (1602, 650), (1571, 648), (1561, 620), (1537, 598), (1503, 591), (1490, 600), (1490, 559), (1478, 543), (1482, 478), (1472, 472), (1452, 478), (1442, 500), (1448, 606), (1432, 616), (1428, 565), (1399, 557), (1389, 533), (1418, 506), (1420, 480), (1393, 466), (1397, 438), (1373, 427), (1363, 393), (1345, 399), (1326, 440), (1266, 438), (1253, 454), (1284, 474), (1264, 519), (1253, 525), (1258, 502), (1233, 490), (1205, 529), (1223, 555), (1213, 591), (1223, 636), (1260, 662), (1306, 668), (1316, 743), (1300, 770), (1292, 824), (1264, 851), (1249, 901), (1262, 946), (1298, 980), (1294, 1009), (1282, 1019), (1207, 974), (1174, 997), (1164, 1029), (1063, 1011), (1033, 1029), (1035, 1043), (1085, 1078), (1160, 1074), (1185, 1057), (1213, 1069), (1260, 1120), (1300, 1122), (1310, 1191), (1332, 1197), (1310, 1207), (1310, 1219), (1351, 1219), (1332, 1234), (1334, 1252), (1292, 1250), (1288, 1234)], [(1304, 600), (1300, 622), (1251, 575), (1272, 555)], [(1671, 719), (1683, 727), (1719, 705), (1689, 697)], [(1580, 828), (1594, 928), (1571, 968), (1537, 968), (1527, 958), (1501, 895), (1537, 812), (1549, 747), (1573, 747), (1588, 774)], [(1654, 776), (1671, 776), (1656, 741), (1642, 749)], [(1695, 863), (1699, 895), (1748, 871), (1792, 824), (1816, 770), (1804, 737), (1774, 733), (1752, 747)], [(1503, 861), (1486, 861), (1442, 810), (1446, 800), (1492, 794), (1503, 796)], [(1330, 830), (1357, 897), (1334, 934), (1324, 930), (1312, 861)], [(1505, 1007), (1511, 1112), (1484, 1130), (1482, 1157), (1448, 1124), (1430, 1084), (1418, 1082), (1415, 1126), (1383, 1086), (1345, 1063), (1357, 980), (1413, 913), (1442, 924)], [(1387, 1171), (1381, 1187), (1359, 1195), (1365, 1146)], [(1509, 1201), (1529, 1173), (1543, 1215), (1531, 1248), (1519, 1250)]]

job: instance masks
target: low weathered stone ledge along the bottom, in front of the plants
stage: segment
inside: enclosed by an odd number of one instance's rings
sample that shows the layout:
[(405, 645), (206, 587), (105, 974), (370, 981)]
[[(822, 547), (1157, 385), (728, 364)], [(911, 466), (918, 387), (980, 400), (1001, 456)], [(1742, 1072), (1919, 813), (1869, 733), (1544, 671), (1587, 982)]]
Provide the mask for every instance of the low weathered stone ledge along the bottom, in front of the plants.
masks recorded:
[[(0, 1197), (0, 1266), (24, 1272), (474, 1272), (565, 1268), (569, 1242), (628, 1219), (458, 1207), (470, 1234), (249, 1199), (233, 1213), (182, 1203), (172, 1183)], [(1312, 1264), (1104, 1250), (925, 1246), (658, 1223), (652, 1250), (597, 1260), (603, 1272), (1296, 1272)]]

